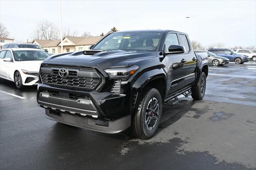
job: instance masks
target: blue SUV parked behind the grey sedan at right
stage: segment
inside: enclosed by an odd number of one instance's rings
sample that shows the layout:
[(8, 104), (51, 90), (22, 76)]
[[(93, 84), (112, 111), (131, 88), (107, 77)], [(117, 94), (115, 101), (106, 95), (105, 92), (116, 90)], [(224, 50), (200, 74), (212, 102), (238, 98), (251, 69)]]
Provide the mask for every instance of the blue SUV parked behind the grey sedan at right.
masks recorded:
[(207, 51), (210, 51), (218, 56), (226, 57), (229, 59), (229, 61), (234, 61), (236, 64), (242, 64), (244, 62), (249, 61), (248, 56), (236, 54), (235, 51), (232, 49), (226, 49), (226, 48), (214, 48), (214, 49), (208, 49)]

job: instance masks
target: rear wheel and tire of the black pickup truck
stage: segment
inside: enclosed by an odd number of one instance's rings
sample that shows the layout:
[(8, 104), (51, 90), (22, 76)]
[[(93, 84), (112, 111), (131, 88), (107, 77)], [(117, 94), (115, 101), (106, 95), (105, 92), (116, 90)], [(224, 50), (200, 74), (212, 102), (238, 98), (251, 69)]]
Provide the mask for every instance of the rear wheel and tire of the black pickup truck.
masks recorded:
[(206, 89), (206, 75), (204, 72), (201, 73), (200, 78), (196, 85), (191, 89), (191, 96), (194, 100), (202, 100)]

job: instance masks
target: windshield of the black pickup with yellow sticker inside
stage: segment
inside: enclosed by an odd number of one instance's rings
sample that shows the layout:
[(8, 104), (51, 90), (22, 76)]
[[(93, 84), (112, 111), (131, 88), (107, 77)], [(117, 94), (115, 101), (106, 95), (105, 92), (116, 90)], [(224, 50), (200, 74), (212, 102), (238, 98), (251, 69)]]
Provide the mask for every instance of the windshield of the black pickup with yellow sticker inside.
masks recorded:
[(156, 51), (160, 37), (160, 32), (115, 32), (93, 49)]

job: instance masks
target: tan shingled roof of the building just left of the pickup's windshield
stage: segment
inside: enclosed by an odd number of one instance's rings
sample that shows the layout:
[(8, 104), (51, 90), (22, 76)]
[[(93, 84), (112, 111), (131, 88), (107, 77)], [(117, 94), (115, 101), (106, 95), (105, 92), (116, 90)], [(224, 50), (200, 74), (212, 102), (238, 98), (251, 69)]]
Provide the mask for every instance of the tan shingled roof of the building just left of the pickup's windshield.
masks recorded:
[[(70, 40), (70, 42), (74, 43), (74, 45), (92, 45), (95, 44), (96, 42), (98, 42), (103, 36), (98, 36), (98, 37), (70, 37), (70, 36), (66, 36), (64, 37), (62, 40), (64, 40), (65, 38)], [(56, 44), (59, 45), (60, 41)]]

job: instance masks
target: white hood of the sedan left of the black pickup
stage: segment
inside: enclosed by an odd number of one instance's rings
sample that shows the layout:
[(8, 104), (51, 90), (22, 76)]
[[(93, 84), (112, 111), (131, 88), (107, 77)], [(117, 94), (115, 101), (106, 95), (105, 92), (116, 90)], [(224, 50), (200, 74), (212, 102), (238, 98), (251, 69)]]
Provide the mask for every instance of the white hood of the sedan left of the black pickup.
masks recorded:
[(32, 71), (32, 72), (39, 72), (40, 65), (43, 60), (37, 61), (16, 61), (16, 65), (23, 70)]

